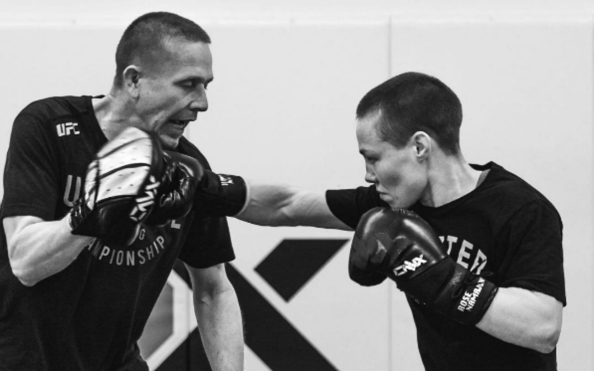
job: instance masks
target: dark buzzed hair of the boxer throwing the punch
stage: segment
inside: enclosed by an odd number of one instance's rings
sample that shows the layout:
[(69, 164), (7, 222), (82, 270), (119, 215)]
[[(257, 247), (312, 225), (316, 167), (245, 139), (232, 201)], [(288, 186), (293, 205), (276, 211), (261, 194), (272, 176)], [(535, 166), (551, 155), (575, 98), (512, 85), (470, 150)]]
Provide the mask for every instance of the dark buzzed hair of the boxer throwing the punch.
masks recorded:
[(445, 154), (460, 152), (462, 104), (435, 77), (405, 72), (370, 90), (357, 106), (357, 119), (381, 112), (378, 137), (402, 148), (417, 131), (437, 141)]

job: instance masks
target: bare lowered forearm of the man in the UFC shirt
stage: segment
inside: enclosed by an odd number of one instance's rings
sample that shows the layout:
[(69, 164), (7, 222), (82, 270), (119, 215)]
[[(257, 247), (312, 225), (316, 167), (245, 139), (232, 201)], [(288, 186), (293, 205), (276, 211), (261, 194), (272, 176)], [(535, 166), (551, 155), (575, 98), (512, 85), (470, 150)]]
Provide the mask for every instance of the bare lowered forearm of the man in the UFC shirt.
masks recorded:
[(235, 290), (229, 288), (212, 300), (194, 299), (200, 335), (213, 371), (244, 369), (244, 332)]

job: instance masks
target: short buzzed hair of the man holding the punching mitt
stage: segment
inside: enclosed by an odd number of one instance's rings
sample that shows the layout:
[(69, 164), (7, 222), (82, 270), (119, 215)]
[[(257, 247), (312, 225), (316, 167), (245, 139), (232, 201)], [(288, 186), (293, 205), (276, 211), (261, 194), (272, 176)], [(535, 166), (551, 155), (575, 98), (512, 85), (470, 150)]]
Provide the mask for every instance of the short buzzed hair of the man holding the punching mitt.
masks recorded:
[(129, 65), (162, 50), (163, 43), (175, 37), (210, 44), (210, 36), (202, 27), (177, 14), (150, 12), (136, 18), (119, 40), (115, 52), (116, 74), (113, 83), (121, 86), (122, 74)]

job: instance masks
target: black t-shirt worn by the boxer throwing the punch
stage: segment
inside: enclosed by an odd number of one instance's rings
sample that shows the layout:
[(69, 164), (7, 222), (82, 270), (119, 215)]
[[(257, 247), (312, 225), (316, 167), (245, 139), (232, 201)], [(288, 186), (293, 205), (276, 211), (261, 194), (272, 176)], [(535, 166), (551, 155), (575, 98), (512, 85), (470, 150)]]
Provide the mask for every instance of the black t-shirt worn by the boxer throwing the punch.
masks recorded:
[[(561, 218), (551, 202), (525, 181), (498, 166), (486, 171), (472, 192), (441, 207), (419, 203), (411, 210), (428, 221), (457, 264), (500, 287), (520, 287), (565, 305)], [(327, 191), (330, 210), (353, 229), (361, 215), (387, 207), (374, 186)], [(459, 324), (407, 297), (426, 370), (556, 370), (555, 351), (542, 354), (498, 340), (475, 326)]]

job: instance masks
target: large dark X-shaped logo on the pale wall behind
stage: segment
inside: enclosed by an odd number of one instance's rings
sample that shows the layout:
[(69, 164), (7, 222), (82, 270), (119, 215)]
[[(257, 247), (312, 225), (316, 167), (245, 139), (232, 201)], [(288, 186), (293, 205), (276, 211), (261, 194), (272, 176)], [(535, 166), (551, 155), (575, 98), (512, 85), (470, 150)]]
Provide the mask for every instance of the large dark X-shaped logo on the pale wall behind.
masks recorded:
[[(287, 303), (299, 291), (305, 290), (309, 282), (328, 261), (345, 246), (347, 239), (285, 239), (274, 248), (255, 271)], [(245, 344), (272, 371), (337, 371), (320, 351), (311, 344), (291, 322), (252, 286), (251, 283), (232, 264), (226, 265), (229, 280), (235, 287), (244, 319)], [(189, 285), (189, 277), (183, 265), (175, 271)], [(173, 305), (173, 300), (163, 292), (165, 305)], [(165, 296), (165, 297), (163, 297)], [(171, 321), (172, 323), (173, 321)], [(162, 322), (168, 324), (170, 322)], [(167, 326), (167, 325), (163, 325)], [(170, 333), (167, 329), (159, 331)], [(141, 342), (141, 347), (143, 344)], [(144, 345), (152, 349), (143, 352), (144, 357), (156, 350), (157, 344)], [(211, 370), (201, 348), (198, 329), (192, 331), (187, 339), (172, 350), (160, 363), (157, 371), (179, 369)]]

